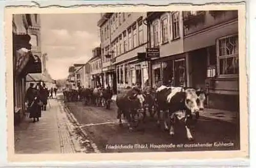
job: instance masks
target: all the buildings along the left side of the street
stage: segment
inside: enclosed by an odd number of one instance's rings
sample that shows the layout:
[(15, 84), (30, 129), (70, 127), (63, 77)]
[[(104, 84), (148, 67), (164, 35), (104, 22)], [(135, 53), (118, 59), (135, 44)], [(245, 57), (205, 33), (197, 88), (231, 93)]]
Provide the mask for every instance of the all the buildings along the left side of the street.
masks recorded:
[(47, 55), (41, 53), (40, 17), (38, 14), (15, 14), (12, 17), (13, 37), (13, 110), (14, 124), (25, 114), (25, 94), (32, 82), (54, 87), (46, 69)]

